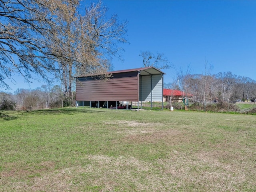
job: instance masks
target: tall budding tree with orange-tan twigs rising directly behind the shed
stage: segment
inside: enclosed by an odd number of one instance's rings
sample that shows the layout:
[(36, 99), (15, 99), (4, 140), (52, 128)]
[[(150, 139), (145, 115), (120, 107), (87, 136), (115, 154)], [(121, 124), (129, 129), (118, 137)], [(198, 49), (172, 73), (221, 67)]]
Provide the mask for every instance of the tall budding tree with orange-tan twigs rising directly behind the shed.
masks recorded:
[[(100, 1), (86, 7), (84, 15), (76, 14), (75, 10), (68, 12), (68, 15), (74, 15), (72, 20), (63, 16), (63, 20), (67, 18), (67, 27), (56, 39), (67, 55), (76, 58), (59, 62), (61, 70), (58, 76), (65, 96), (72, 95), (74, 76), (105, 74), (112, 57), (120, 58), (122, 48), (118, 44), (127, 43), (124, 38), (127, 21), (119, 24), (117, 15), (107, 18), (107, 10)], [(63, 42), (62, 38), (66, 41)]]

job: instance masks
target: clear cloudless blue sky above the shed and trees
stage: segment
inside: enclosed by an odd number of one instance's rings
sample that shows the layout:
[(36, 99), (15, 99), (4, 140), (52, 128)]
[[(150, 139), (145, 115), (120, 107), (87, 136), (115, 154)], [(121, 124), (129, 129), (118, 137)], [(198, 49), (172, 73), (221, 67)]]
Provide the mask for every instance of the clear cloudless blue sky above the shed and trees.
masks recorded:
[[(213, 64), (212, 74), (232, 72), (256, 80), (256, 1), (168, 1), (103, 0), (109, 14), (128, 20), (123, 45), (124, 62), (113, 60), (114, 70), (143, 66), (140, 51), (164, 53), (176, 68), (202, 74), (205, 61)], [(174, 69), (164, 82), (172, 82)], [(22, 81), (22, 80), (21, 80)], [(36, 88), (43, 82), (10, 84)]]

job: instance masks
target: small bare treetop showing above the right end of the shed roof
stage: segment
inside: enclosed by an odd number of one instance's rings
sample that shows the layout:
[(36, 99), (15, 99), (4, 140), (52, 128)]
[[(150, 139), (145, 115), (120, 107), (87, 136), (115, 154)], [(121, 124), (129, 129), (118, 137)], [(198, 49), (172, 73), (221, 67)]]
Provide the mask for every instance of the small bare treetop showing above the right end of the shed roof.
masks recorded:
[(157, 69), (169, 69), (171, 67), (163, 53), (153, 54), (150, 51), (141, 51), (139, 56), (143, 58), (143, 67), (155, 67)]

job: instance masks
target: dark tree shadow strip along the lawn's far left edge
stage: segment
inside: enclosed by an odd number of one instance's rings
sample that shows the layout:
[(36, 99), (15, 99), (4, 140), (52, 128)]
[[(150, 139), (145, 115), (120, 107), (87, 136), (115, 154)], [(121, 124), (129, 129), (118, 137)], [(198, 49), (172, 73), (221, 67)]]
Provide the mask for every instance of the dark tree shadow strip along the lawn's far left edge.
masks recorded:
[[(7, 115), (0, 112), (0, 118), (4, 120), (14, 120), (19, 118), (20, 115), (27, 114), (40, 114), (40, 115), (58, 115), (58, 114), (67, 114), (67, 115), (76, 115), (80, 113), (100, 113), (104, 112), (103, 110), (91, 109), (91, 108), (56, 108), (56, 109), (42, 109), (42, 110), (25, 110), (25, 111), (14, 111), (14, 115)], [(10, 111), (9, 111), (10, 113)]]

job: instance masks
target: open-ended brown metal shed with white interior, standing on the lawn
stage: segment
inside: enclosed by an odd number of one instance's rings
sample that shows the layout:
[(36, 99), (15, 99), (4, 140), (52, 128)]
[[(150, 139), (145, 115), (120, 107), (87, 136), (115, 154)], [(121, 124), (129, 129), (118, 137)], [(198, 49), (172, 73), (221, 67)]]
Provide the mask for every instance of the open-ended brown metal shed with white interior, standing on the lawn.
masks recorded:
[(146, 67), (112, 71), (108, 74), (112, 77), (107, 80), (101, 80), (99, 76), (77, 77), (76, 106), (122, 106), (128, 109), (132, 108), (132, 102), (136, 102), (139, 109), (145, 101), (151, 102), (151, 108), (152, 102), (163, 103), (164, 72), (154, 67)]

